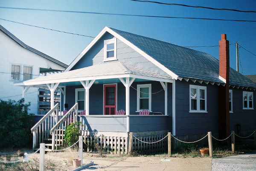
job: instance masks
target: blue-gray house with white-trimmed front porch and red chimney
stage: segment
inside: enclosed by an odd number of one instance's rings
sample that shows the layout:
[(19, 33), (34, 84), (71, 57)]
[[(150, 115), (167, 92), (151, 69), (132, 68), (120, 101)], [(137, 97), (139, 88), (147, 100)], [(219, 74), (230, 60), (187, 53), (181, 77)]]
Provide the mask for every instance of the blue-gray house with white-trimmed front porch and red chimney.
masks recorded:
[[(154, 141), (168, 131), (174, 136), (210, 131), (226, 138), (238, 124), (243, 131), (256, 129), (256, 83), (229, 67), (226, 35), (219, 44), (220, 61), (204, 52), (105, 27), (65, 72), (15, 85), (61, 89), (61, 110), (76, 105), (84, 135), (127, 138), (135, 132), (151, 135)], [(150, 111), (148, 116), (139, 115), (144, 109)], [(86, 115), (79, 116), (83, 110)], [(125, 115), (115, 115), (118, 110), (125, 110)], [(118, 146), (125, 139), (116, 141)]]

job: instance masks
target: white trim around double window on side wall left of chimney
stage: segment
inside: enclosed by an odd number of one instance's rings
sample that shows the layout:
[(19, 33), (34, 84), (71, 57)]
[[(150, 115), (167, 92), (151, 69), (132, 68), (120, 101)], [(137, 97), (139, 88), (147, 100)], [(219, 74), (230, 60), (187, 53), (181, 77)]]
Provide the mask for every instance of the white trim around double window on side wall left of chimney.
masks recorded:
[[(204, 90), (205, 93), (205, 110), (200, 110), (200, 95), (196, 96), (197, 110), (191, 110), (191, 88), (195, 88), (196, 92), (200, 93), (200, 89)], [(207, 87), (189, 85), (189, 113), (207, 113)]]

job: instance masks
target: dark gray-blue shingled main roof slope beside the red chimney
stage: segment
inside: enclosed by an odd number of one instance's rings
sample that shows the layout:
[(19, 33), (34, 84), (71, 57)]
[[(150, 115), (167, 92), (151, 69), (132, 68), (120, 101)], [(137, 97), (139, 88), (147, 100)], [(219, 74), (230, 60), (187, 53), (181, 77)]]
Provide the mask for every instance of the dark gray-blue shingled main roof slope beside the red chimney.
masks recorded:
[[(172, 43), (112, 29), (179, 77), (224, 83), (219, 79), (219, 60), (211, 55)], [(256, 87), (250, 79), (230, 68), (230, 84)]]

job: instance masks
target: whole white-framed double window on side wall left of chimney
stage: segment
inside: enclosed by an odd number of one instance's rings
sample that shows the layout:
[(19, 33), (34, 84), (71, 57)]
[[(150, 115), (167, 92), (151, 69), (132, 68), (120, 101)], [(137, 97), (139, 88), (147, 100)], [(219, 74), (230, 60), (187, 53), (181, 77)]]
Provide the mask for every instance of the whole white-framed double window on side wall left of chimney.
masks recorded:
[(207, 112), (206, 87), (189, 86), (189, 112)]

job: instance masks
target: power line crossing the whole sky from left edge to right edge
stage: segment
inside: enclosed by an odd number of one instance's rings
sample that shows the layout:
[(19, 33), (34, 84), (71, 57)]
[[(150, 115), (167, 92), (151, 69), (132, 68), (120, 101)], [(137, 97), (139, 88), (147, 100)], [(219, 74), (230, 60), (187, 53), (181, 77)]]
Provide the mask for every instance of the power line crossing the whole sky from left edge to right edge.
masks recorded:
[(196, 19), (196, 20), (219, 20), (219, 21), (256, 22), (256, 20), (226, 20), (226, 19), (215, 19), (215, 18), (167, 17), (167, 16), (153, 16), (153, 15), (113, 14), (113, 13), (102, 13), (102, 12), (78, 12), (78, 11), (63, 11), (63, 10), (50, 10), (50, 9), (25, 9), (25, 8), (11, 8), (11, 7), (0, 7), (0, 8), (4, 8), (4, 9), (37, 10), (37, 11), (51, 11), (51, 12), (72, 12), (72, 13), (84, 13), (84, 14), (120, 15), (120, 16), (133, 16), (133, 17), (181, 18), (181, 19)]

